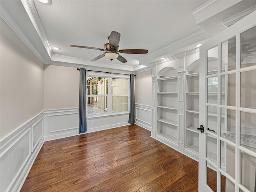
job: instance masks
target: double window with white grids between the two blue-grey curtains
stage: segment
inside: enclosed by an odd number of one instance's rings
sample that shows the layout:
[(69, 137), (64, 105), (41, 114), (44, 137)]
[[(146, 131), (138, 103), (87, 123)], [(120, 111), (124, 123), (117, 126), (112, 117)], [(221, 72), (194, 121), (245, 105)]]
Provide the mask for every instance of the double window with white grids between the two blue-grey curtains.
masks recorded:
[(128, 112), (129, 81), (128, 75), (86, 72), (87, 115)]

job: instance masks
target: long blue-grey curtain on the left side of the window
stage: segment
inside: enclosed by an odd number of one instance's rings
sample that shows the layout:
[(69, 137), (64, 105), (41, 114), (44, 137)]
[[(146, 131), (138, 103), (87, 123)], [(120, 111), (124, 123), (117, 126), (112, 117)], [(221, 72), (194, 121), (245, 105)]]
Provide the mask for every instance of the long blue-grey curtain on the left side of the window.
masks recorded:
[(86, 125), (86, 70), (80, 68), (79, 86), (79, 133), (87, 131)]

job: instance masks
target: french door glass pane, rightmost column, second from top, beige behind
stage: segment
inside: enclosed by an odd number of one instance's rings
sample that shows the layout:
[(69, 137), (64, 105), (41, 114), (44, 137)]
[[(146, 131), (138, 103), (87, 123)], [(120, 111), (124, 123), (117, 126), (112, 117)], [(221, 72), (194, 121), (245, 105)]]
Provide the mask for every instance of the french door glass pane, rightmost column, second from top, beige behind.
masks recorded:
[(256, 109), (256, 70), (240, 73), (240, 107)]

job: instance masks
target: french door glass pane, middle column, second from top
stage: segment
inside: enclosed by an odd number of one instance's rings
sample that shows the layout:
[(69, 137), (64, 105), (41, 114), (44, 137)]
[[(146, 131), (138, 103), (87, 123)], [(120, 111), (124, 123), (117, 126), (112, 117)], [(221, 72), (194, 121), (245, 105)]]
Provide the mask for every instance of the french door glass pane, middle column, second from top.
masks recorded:
[(236, 73), (221, 76), (221, 105), (236, 106)]

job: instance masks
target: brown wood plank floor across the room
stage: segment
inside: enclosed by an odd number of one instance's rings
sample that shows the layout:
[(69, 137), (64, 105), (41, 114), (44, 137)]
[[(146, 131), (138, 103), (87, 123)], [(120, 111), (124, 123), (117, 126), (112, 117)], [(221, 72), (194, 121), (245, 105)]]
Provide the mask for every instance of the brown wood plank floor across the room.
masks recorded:
[(129, 125), (47, 141), (22, 192), (197, 192), (198, 162)]

